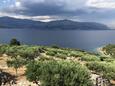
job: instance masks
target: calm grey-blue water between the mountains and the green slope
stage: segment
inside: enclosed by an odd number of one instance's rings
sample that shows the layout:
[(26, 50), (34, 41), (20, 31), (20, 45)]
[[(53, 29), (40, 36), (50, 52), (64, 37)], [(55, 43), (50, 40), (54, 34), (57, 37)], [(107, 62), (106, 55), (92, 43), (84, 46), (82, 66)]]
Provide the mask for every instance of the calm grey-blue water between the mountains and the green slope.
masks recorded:
[(115, 31), (0, 29), (0, 43), (8, 43), (12, 38), (17, 38), (23, 44), (56, 44), (62, 47), (94, 50), (105, 44), (115, 44)]

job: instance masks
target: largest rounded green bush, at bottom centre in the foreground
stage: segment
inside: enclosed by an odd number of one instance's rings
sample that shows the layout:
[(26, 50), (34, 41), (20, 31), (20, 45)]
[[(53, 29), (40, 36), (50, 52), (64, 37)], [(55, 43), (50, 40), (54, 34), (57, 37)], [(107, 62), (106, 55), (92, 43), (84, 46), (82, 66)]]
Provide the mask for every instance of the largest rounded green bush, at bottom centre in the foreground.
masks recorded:
[(27, 66), (29, 81), (41, 86), (93, 86), (86, 67), (67, 61), (39, 61)]

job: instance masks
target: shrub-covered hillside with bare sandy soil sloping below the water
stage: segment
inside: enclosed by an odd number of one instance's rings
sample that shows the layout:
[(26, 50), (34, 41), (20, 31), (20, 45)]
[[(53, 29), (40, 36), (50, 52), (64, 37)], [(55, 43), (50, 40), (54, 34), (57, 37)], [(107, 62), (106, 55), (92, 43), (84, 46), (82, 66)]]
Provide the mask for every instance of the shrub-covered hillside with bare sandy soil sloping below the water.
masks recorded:
[[(4, 56), (4, 54), (6, 55)], [(9, 73), (13, 76), (18, 75), (18, 77), (15, 77), (17, 85), (26, 82), (24, 86), (28, 86), (34, 84), (33, 82), (42, 82), (42, 80), (44, 84), (54, 85), (60, 79), (67, 79), (69, 81), (64, 81), (63, 83), (69, 84), (69, 82), (72, 82), (73, 84), (79, 83), (78, 86), (81, 84), (96, 86), (95, 84), (100, 84), (96, 81), (99, 80), (103, 84), (101, 86), (114, 86), (112, 84), (115, 80), (115, 59), (103, 57), (95, 53), (57, 46), (1, 45), (0, 55), (0, 69), (3, 73)], [(16, 68), (17, 71), (15, 70)], [(61, 74), (64, 75), (61, 76)], [(49, 78), (53, 83), (49, 83)], [(78, 81), (71, 81), (71, 78)], [(45, 81), (48, 81), (48, 83), (45, 83)], [(110, 82), (111, 85), (108, 85)], [(22, 86), (22, 84), (18, 86)]]

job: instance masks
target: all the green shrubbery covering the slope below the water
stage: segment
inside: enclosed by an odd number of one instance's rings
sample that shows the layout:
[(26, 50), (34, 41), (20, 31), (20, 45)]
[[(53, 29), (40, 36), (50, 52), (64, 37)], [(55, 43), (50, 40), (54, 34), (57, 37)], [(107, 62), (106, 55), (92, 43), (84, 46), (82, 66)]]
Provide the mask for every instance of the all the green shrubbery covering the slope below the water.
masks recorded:
[(58, 46), (0, 45), (0, 55), (8, 55), (7, 65), (14, 67), (16, 74), (25, 66), (27, 79), (40, 81), (42, 86), (93, 86), (91, 71), (115, 80), (114, 50), (115, 45), (105, 46), (103, 56)]

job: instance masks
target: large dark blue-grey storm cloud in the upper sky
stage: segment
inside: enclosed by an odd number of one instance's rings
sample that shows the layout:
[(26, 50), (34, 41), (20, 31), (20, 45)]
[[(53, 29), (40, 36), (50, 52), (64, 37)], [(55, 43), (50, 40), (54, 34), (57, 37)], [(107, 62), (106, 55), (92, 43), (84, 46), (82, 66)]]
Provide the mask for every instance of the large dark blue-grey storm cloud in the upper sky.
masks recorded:
[[(6, 9), (7, 12), (14, 12), (17, 14), (22, 15), (29, 15), (29, 16), (43, 16), (43, 15), (65, 15), (65, 16), (71, 16), (71, 15), (82, 15), (87, 13), (82, 8), (71, 7), (72, 5), (69, 5), (71, 3), (65, 3), (66, 1), (60, 0), (60, 2), (56, 0), (23, 0), (20, 1), (20, 6), (14, 6), (13, 8)], [(77, 5), (77, 4), (76, 4)], [(20, 9), (21, 8), (21, 9)]]

